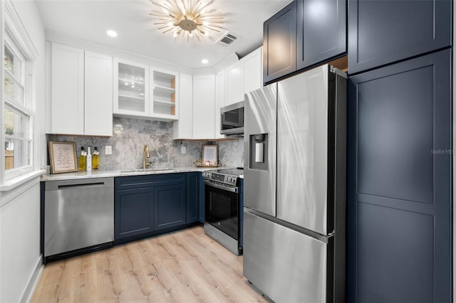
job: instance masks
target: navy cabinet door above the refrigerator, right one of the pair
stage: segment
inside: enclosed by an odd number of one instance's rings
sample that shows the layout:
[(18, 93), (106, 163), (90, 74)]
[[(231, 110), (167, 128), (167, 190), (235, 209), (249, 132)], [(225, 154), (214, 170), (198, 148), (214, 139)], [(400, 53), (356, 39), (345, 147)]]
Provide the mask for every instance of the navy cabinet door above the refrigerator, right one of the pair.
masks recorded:
[(298, 69), (346, 52), (346, 0), (297, 1)]

